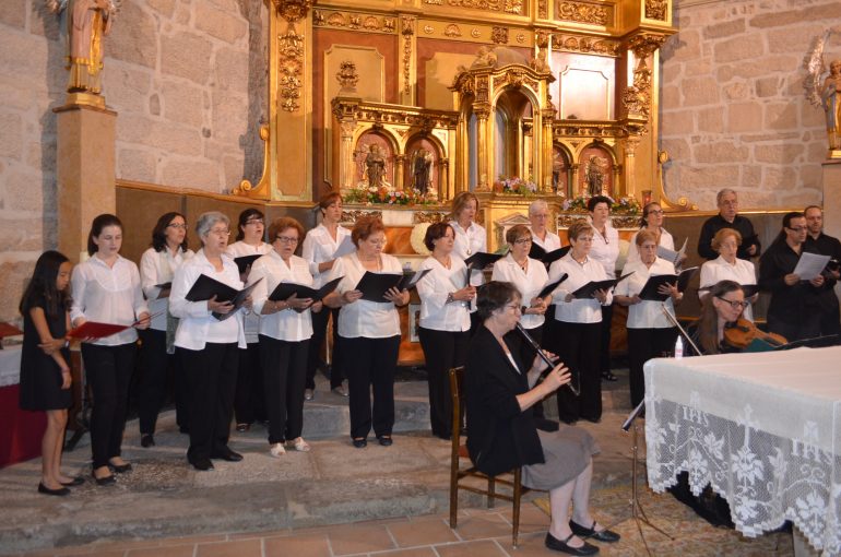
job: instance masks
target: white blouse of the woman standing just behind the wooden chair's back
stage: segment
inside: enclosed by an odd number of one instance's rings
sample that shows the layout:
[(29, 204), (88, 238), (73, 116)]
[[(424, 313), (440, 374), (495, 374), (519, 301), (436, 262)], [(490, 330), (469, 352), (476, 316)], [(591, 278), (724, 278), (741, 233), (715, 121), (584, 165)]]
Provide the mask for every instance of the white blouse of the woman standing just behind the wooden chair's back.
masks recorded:
[(470, 303), (455, 300), (447, 304), (449, 294), (465, 286), (467, 268), (464, 261), (450, 256), (450, 269), (447, 269), (434, 257), (428, 257), (417, 271), (425, 269), (430, 271), (417, 283), (420, 327), (434, 331), (469, 331)]

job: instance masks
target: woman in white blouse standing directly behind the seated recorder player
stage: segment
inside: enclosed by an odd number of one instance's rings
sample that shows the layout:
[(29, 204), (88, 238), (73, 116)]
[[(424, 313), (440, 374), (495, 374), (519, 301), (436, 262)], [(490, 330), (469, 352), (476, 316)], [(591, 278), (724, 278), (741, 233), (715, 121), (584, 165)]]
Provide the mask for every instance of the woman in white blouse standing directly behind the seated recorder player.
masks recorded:
[[(546, 266), (540, 261), (529, 257), (532, 248), (533, 236), (529, 227), (522, 224), (514, 225), (506, 233), (508, 254), (494, 263), (491, 281), (501, 281), (517, 286), (522, 295), (525, 306), (520, 319), (520, 325), (537, 343), (543, 340), (543, 323), (546, 310), (552, 303), (552, 295), (537, 297), (548, 283)], [(511, 331), (507, 339), (519, 351), (521, 362), (534, 359), (534, 348), (521, 337), (517, 331)]]

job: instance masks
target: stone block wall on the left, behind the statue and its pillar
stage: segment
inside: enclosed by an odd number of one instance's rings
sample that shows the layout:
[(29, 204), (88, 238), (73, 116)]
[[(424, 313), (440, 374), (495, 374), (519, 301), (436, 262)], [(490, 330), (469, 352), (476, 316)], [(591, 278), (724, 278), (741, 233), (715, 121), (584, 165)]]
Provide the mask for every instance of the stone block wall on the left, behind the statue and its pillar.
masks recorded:
[[(0, 320), (57, 245), (56, 116), (64, 44), (45, 0), (0, 1)], [(103, 92), (117, 111), (116, 178), (212, 192), (262, 169), (263, 2), (121, 0)], [(146, 235), (151, 230), (143, 230)], [(133, 233), (133, 232), (131, 232)]]

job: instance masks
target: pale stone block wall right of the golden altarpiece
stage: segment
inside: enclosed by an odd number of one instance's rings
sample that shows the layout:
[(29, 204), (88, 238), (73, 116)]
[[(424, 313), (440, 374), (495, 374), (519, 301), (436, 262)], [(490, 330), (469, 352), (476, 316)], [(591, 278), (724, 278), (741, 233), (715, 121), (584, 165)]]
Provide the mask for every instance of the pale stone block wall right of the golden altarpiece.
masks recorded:
[(803, 60), (832, 28), (837, 0), (677, 0), (679, 33), (661, 51), (661, 149), (670, 199), (701, 209), (732, 187), (743, 208), (821, 202), (824, 111), (805, 97)]

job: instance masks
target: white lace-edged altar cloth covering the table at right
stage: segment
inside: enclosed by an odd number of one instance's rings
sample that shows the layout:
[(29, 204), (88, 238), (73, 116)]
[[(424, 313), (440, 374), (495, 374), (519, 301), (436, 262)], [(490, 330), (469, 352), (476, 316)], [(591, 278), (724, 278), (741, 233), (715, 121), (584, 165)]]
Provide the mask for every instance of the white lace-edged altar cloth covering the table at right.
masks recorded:
[(754, 537), (791, 520), (841, 555), (841, 347), (645, 364), (649, 485), (688, 472)]

